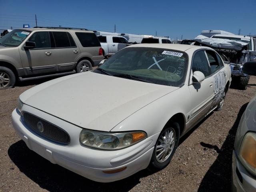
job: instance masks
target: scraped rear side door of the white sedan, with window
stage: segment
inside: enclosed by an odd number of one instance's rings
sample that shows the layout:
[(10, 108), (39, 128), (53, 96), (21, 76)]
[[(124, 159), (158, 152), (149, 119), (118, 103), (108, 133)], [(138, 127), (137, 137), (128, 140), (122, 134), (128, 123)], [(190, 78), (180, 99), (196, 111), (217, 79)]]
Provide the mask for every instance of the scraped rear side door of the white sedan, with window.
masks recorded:
[(226, 71), (224, 64), (220, 59), (220, 56), (212, 50), (206, 50), (206, 55), (210, 64), (211, 76), (213, 78), (213, 93), (214, 97), (212, 99), (212, 107), (218, 105), (222, 94), (226, 86)]

